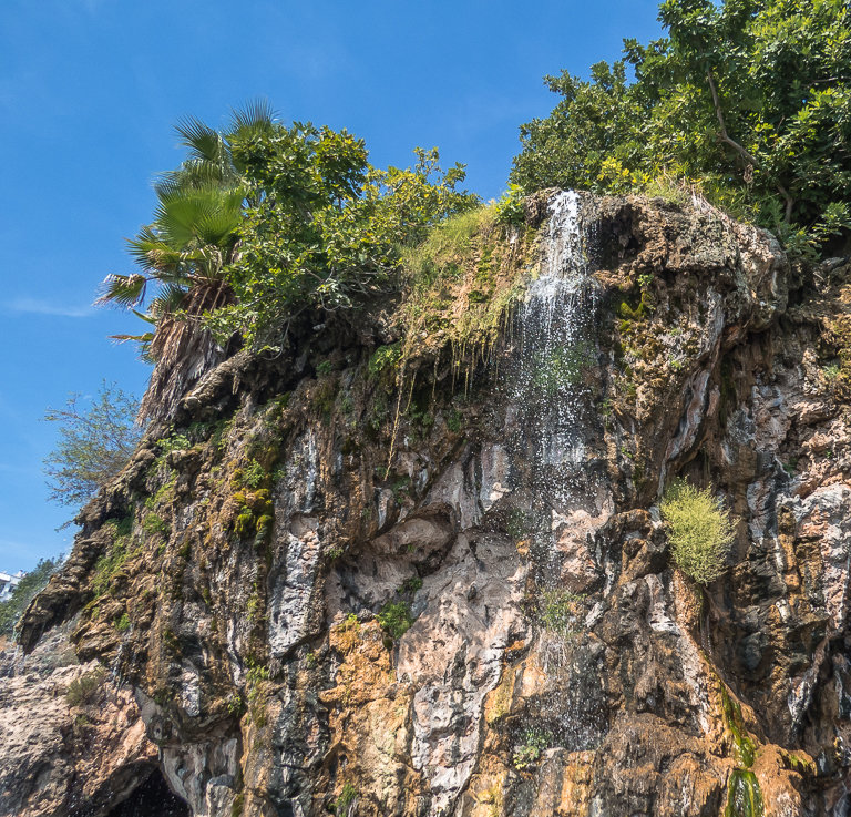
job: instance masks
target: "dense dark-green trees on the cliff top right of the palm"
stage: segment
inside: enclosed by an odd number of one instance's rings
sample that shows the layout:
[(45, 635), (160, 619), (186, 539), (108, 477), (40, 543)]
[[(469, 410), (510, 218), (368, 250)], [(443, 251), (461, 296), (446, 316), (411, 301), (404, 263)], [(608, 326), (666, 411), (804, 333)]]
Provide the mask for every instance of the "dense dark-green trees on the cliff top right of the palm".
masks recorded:
[[(665, 0), (667, 38), (624, 43), (521, 129), (512, 181), (608, 193), (684, 182), (816, 254), (851, 227), (851, 9), (842, 0)], [(635, 81), (627, 78), (627, 65)]]

